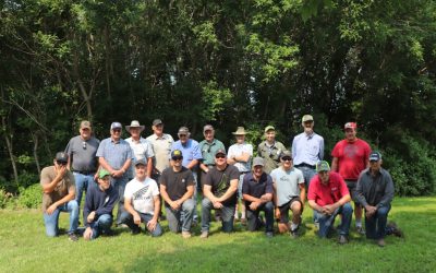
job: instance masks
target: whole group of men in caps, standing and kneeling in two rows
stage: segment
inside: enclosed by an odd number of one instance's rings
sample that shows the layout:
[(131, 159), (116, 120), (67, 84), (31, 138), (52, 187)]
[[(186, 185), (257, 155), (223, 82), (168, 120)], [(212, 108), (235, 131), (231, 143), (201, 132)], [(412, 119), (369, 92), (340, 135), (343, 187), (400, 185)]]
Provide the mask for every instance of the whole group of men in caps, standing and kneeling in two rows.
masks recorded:
[(392, 179), (382, 168), (382, 154), (356, 138), (356, 124), (346, 123), (346, 138), (331, 152), (331, 168), (324, 161), (324, 139), (314, 132), (311, 115), (302, 117), (302, 127), (289, 151), (276, 140), (275, 128), (267, 126), (265, 141), (253, 157), (243, 127), (233, 132), (235, 143), (226, 151), (210, 124), (204, 127), (205, 139), (198, 143), (186, 127), (179, 129), (174, 141), (164, 133), (160, 119), (153, 121), (154, 133), (146, 139), (141, 135), (145, 127), (133, 120), (125, 127), (131, 136), (123, 140), (122, 124), (112, 122), (110, 136), (100, 142), (93, 136), (90, 122), (82, 121), (80, 134), (57, 153), (53, 166), (41, 171), (46, 233), (57, 236), (59, 213), (69, 212), (69, 238), (77, 240), (81, 200), (86, 191), (85, 240), (110, 235), (113, 221), (117, 226), (126, 225), (132, 234), (140, 234), (144, 223), (152, 236), (160, 236), (162, 201), (169, 229), (190, 238), (198, 222), (196, 200), (202, 191), (201, 238), (209, 236), (211, 210), (225, 233), (231, 233), (234, 222), (241, 221), (249, 230), (265, 228), (265, 235), (272, 237), (276, 218), (279, 233), (299, 237), (306, 198), (319, 237), (332, 234), (335, 218), (341, 214), (339, 242), (348, 242), (351, 200), (358, 233), (382, 247), (386, 235), (401, 236), (395, 223), (387, 223)]

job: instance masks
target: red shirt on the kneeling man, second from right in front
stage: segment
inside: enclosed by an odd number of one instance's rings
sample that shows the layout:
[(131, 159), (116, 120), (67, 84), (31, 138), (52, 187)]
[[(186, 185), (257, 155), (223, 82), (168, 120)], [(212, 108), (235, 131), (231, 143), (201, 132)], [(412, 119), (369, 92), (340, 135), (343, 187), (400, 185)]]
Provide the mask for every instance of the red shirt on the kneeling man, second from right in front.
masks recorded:
[(335, 171), (330, 171), (329, 181), (324, 185), (318, 175), (315, 175), (308, 186), (307, 200), (314, 200), (320, 206), (334, 204), (342, 197), (350, 194), (343, 178)]

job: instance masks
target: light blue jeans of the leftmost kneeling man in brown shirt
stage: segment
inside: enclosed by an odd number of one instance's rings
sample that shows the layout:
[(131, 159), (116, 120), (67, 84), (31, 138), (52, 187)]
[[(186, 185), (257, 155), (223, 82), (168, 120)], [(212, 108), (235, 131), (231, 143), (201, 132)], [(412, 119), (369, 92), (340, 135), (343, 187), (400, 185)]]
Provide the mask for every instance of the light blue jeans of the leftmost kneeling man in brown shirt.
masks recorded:
[(70, 213), (70, 227), (68, 233), (75, 233), (78, 226), (78, 205), (75, 200), (71, 200), (56, 209), (52, 214), (44, 213), (44, 224), (46, 226), (46, 234), (49, 237), (58, 236), (59, 234), (59, 214), (61, 212)]

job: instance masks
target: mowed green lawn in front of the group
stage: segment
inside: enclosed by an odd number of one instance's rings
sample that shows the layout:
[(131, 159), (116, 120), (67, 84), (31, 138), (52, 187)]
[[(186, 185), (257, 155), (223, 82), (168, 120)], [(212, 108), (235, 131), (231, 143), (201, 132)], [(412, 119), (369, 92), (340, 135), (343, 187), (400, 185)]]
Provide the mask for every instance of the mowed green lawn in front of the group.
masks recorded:
[[(213, 223), (208, 239), (199, 226), (191, 239), (168, 232), (164, 236), (116, 236), (71, 242), (65, 235), (47, 238), (41, 212), (0, 211), (0, 272), (435, 272), (436, 198), (396, 198), (389, 219), (405, 239), (389, 236), (385, 248), (359, 236), (349, 245), (319, 239), (312, 210), (304, 212), (304, 234), (298, 239), (263, 232), (249, 233), (239, 223), (230, 235)], [(339, 218), (337, 218), (337, 224)], [(352, 225), (354, 226), (354, 224)], [(60, 227), (66, 229), (68, 214)]]

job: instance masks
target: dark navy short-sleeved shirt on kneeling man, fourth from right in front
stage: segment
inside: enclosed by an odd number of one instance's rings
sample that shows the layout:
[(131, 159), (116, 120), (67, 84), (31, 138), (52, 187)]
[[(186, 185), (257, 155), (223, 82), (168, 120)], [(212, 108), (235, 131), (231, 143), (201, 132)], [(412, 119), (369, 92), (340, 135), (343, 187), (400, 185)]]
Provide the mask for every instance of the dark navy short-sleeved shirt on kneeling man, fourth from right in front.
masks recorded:
[[(265, 193), (274, 193), (272, 178), (268, 174), (262, 174), (258, 181), (254, 179), (253, 173), (249, 173), (244, 176), (242, 194), (261, 198)], [(246, 206), (249, 206), (251, 203), (252, 202), (245, 201)]]

